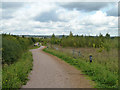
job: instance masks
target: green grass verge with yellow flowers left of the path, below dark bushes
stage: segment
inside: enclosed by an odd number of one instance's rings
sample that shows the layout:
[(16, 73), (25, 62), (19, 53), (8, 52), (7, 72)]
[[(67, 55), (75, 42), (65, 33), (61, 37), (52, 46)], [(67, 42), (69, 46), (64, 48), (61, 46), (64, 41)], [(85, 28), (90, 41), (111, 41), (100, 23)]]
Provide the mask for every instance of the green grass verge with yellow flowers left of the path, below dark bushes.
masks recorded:
[(32, 70), (32, 53), (27, 51), (22, 57), (8, 66), (4, 65), (2, 70), (2, 88), (20, 88), (26, 84), (28, 73)]

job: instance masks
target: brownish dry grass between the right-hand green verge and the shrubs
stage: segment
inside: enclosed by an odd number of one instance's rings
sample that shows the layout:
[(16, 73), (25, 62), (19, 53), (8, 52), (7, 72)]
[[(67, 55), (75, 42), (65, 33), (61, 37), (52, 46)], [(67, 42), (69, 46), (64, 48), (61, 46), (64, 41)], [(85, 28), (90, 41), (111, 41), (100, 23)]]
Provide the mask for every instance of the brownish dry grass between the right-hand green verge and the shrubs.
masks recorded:
[[(93, 62), (104, 65), (109, 71), (118, 72), (118, 50), (111, 49), (109, 52), (106, 50), (100, 50), (99, 48), (62, 48), (61, 46), (54, 45), (54, 49), (64, 52), (75, 58), (83, 58), (89, 62), (89, 55), (93, 56)], [(73, 55), (73, 49), (75, 50)], [(78, 52), (80, 51), (80, 57)]]

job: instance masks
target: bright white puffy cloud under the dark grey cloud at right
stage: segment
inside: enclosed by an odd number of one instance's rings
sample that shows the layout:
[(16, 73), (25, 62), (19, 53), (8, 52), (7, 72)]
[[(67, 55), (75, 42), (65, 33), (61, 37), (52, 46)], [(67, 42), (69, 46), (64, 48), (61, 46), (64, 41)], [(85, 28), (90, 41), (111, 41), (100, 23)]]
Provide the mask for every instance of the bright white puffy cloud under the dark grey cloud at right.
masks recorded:
[(107, 16), (106, 13), (102, 11), (97, 11), (93, 15), (88, 15), (82, 19), (82, 23), (86, 25), (94, 26), (114, 26), (117, 27), (118, 18), (114, 16)]

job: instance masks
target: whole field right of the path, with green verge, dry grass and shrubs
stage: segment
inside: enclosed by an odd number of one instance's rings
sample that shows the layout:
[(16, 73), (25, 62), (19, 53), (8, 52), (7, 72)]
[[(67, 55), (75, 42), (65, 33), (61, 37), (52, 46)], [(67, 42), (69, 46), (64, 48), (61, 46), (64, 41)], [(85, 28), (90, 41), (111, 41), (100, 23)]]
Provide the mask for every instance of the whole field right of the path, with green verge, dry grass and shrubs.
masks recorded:
[(53, 34), (42, 41), (48, 47), (46, 52), (82, 69), (97, 83), (98, 88), (115, 88), (118, 85), (118, 39), (108, 33), (106, 36), (74, 36), (70, 32), (66, 37), (57, 38)]

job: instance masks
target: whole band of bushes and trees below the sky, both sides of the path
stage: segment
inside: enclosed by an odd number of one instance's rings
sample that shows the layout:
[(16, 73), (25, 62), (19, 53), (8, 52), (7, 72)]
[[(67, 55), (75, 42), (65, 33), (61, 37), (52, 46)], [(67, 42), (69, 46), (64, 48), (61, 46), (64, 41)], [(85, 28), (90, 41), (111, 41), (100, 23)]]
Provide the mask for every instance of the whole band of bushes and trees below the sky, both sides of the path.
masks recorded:
[(107, 33), (106, 36), (100, 34), (99, 36), (73, 36), (70, 32), (69, 36), (56, 37), (54, 34), (51, 38), (34, 38), (16, 36), (10, 34), (2, 34), (2, 63), (12, 64), (21, 54), (28, 49), (30, 45), (35, 42), (42, 42), (45, 45), (60, 45), (62, 47), (73, 48), (100, 48), (102, 50), (110, 51), (112, 48), (118, 48), (118, 38), (111, 38)]

